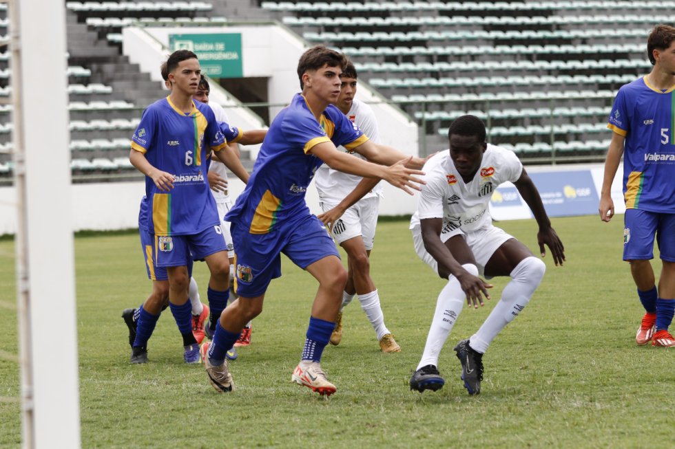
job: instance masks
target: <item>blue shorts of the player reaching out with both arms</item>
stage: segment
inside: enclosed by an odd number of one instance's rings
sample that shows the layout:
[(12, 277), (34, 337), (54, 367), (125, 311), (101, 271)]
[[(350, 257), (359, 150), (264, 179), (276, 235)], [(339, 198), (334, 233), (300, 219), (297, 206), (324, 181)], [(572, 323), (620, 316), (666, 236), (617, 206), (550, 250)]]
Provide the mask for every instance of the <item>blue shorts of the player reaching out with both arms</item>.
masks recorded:
[(302, 270), (326, 256), (340, 257), (333, 239), (314, 215), (284, 223), (269, 234), (251, 234), (235, 222), (230, 232), (236, 266), (234, 289), (245, 298), (264, 294), (272, 279), (281, 276), (281, 253)]

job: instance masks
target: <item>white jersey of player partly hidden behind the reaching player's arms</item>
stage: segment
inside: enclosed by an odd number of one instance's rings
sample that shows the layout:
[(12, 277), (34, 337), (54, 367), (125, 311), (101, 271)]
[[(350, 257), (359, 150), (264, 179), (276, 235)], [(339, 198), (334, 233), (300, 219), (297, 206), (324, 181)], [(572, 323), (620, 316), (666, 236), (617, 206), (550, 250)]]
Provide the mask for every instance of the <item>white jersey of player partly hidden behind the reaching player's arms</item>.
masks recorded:
[[(375, 143), (380, 142), (380, 135), (377, 131), (377, 122), (375, 121), (375, 113), (366, 103), (354, 98), (351, 109), (347, 113), (347, 118), (351, 120), (357, 127), (363, 131), (368, 139)], [(338, 146), (338, 150), (349, 153), (344, 146)], [(358, 153), (353, 153), (356, 157), (364, 157)], [(344, 197), (349, 195), (357, 184), (363, 179), (357, 175), (350, 175), (349, 173), (342, 173), (341, 171), (333, 170), (327, 164), (322, 164), (314, 175), (314, 182), (319, 193), (319, 199), (327, 201), (331, 204), (337, 204)], [(366, 193), (364, 198), (375, 197), (382, 195), (382, 183), (377, 184), (373, 190)]]

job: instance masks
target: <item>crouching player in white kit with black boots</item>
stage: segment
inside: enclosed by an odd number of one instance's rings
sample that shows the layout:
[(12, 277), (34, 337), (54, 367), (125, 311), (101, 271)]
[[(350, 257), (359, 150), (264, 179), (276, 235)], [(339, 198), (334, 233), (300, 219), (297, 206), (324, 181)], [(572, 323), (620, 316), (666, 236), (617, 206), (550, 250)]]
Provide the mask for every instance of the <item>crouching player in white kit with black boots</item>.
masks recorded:
[(439, 353), (464, 306), (484, 305), (492, 287), (484, 276), (510, 276), (501, 299), (470, 338), (455, 347), (461, 378), (470, 395), (481, 391), (483, 354), (499, 331), (530, 302), (546, 265), (503, 230), (492, 226), (488, 203), (503, 182), (515, 184), (539, 225), (537, 241), (555, 265), (565, 260), (563, 244), (551, 227), (541, 197), (521, 162), (511, 151), (485, 142), (485, 125), (475, 116), (457, 118), (448, 131), (449, 151), (424, 165), (426, 184), (411, 220), (415, 251), (448, 283), (438, 296), (422, 360), (410, 380), (411, 390), (433, 391), (445, 383), (438, 371)]

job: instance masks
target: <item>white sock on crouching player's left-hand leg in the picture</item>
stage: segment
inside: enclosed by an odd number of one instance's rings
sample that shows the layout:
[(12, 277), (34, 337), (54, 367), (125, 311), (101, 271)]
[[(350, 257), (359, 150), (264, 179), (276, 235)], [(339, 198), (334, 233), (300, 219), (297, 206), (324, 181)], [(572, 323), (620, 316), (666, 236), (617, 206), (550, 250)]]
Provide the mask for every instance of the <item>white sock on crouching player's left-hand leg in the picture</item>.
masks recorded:
[[(476, 265), (467, 263), (461, 266), (464, 267), (464, 270), (470, 272), (474, 276), (478, 276), (478, 268)], [(448, 283), (438, 295), (436, 311), (431, 320), (431, 327), (429, 329), (429, 334), (426, 337), (422, 360), (419, 361), (417, 369), (426, 365), (438, 366), (438, 356), (441, 353), (441, 349), (443, 348), (448, 335), (450, 335), (450, 331), (453, 330), (457, 318), (459, 318), (465, 300), (466, 294), (464, 293), (464, 290), (461, 289), (459, 281), (457, 281), (455, 276), (450, 274), (450, 276), (448, 276)], [(417, 371), (417, 369), (415, 369), (415, 371)]]

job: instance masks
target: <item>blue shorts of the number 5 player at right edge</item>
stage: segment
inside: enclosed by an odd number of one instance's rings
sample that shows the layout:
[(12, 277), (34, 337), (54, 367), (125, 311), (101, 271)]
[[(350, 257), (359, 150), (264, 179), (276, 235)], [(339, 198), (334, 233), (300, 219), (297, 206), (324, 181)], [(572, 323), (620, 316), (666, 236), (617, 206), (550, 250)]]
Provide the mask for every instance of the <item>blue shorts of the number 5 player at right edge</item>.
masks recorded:
[(626, 209), (623, 260), (654, 259), (654, 236), (661, 260), (675, 262), (675, 214)]

